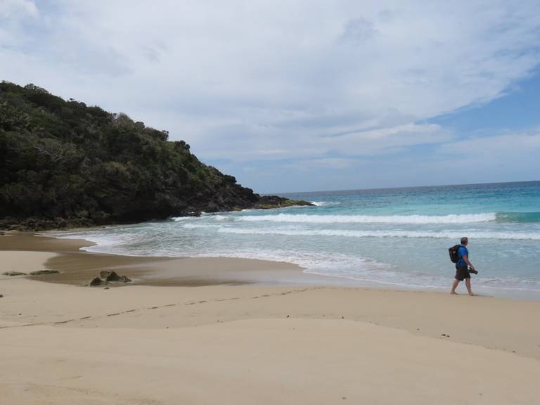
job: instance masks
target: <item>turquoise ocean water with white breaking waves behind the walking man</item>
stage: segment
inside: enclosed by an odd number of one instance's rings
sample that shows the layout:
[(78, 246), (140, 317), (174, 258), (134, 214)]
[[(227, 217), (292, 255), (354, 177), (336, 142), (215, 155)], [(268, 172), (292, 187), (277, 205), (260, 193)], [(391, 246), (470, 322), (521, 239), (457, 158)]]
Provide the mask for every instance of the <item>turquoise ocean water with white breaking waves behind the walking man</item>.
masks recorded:
[[(122, 255), (248, 257), (359, 285), (449, 290), (468, 236), (476, 293), (540, 299), (540, 181), (282, 194), (315, 207), (53, 233)], [(461, 287), (464, 289), (464, 286)]]

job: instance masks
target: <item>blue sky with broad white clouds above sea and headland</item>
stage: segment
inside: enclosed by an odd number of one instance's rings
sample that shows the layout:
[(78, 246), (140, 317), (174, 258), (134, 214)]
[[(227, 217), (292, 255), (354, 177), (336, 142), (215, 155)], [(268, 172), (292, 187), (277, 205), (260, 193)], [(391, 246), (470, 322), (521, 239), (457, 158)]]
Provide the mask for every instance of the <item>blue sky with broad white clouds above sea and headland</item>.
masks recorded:
[(0, 79), (258, 193), (540, 180), (540, 2), (0, 0)]

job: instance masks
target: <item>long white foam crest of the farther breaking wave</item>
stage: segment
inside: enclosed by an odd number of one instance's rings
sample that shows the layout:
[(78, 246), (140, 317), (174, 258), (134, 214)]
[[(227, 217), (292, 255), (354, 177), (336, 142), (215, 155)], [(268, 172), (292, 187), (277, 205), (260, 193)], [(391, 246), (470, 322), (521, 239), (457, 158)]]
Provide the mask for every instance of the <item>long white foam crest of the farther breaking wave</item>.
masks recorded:
[(239, 221), (293, 222), (301, 224), (470, 224), (496, 220), (495, 212), (449, 215), (317, 215), (277, 214), (238, 217)]

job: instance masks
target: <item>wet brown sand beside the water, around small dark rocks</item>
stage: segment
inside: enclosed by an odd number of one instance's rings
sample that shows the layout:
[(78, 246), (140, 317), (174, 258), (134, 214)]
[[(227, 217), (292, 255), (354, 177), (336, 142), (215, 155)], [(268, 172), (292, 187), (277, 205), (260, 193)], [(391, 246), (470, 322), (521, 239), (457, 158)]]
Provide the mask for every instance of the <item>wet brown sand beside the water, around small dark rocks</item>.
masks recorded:
[[(161, 257), (130, 256), (88, 252), (81, 248), (95, 243), (84, 239), (55, 238), (35, 233), (11, 233), (0, 236), (0, 251), (24, 250), (51, 252), (46, 269), (58, 274), (28, 276), (51, 283), (84, 286), (99, 271), (117, 271), (133, 281), (127, 285), (201, 286), (201, 285), (338, 285), (331, 276), (307, 274), (302, 267), (288, 262), (238, 257)], [(111, 287), (121, 286), (113, 284)]]

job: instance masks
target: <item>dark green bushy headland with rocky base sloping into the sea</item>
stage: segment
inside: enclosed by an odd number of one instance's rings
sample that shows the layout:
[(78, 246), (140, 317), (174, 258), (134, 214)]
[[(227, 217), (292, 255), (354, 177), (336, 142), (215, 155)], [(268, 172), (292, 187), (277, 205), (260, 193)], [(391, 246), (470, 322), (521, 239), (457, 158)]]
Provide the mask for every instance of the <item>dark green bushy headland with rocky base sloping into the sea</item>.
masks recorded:
[(0, 83), (0, 228), (119, 224), (310, 205), (261, 196), (184, 141), (28, 84)]

